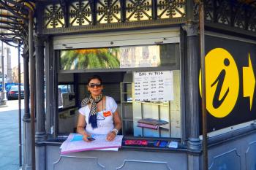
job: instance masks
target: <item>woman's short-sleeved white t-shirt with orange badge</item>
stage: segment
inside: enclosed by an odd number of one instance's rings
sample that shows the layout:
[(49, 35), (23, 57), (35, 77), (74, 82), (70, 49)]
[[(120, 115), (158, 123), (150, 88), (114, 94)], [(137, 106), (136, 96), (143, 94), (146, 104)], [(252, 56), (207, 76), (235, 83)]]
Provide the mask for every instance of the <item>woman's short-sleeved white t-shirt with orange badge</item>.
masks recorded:
[[(116, 101), (109, 96), (106, 96), (106, 107), (103, 111), (97, 112), (97, 126), (98, 128), (92, 128), (89, 124), (90, 108), (88, 105), (79, 109), (80, 114), (86, 117), (86, 131), (89, 134), (108, 134), (113, 128), (113, 114), (116, 112)], [(110, 111), (110, 112), (109, 112)], [(108, 114), (104, 114), (108, 112)], [(111, 114), (109, 114), (111, 113)]]

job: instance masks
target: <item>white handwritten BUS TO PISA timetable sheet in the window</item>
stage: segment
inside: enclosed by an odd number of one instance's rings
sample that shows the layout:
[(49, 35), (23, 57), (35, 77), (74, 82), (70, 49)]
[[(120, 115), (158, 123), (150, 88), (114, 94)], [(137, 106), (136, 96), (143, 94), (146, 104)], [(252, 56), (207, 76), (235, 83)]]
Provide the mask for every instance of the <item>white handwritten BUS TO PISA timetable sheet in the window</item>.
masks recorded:
[(173, 100), (173, 72), (135, 72), (135, 101)]

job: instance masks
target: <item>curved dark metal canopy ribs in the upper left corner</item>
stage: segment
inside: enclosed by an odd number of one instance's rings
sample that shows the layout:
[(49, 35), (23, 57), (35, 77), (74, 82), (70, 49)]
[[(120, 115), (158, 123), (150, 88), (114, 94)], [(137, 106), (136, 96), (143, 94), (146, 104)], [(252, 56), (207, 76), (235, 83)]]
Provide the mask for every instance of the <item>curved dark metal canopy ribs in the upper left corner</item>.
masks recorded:
[[(40, 1), (50, 2), (50, 0), (1, 0), (0, 40), (8, 43), (12, 42), (15, 38), (20, 38), (20, 35), (21, 37), (27, 36), (29, 10), (34, 12), (35, 3)], [(256, 7), (256, 0), (238, 1)]]

